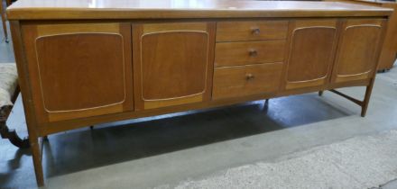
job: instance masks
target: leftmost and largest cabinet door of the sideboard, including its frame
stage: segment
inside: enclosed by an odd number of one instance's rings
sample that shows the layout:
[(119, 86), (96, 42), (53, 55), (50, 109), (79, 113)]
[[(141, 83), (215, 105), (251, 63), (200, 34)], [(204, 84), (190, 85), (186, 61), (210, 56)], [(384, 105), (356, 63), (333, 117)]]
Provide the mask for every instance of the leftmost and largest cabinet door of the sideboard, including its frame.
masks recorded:
[(23, 25), (38, 120), (132, 111), (129, 23)]

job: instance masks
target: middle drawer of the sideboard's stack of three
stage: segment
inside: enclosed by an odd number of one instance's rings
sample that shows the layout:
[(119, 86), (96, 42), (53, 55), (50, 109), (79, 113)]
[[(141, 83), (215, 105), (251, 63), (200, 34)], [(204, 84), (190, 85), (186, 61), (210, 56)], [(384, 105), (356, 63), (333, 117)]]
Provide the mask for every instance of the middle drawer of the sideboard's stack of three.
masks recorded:
[(216, 44), (215, 67), (282, 62), (285, 40), (221, 42)]

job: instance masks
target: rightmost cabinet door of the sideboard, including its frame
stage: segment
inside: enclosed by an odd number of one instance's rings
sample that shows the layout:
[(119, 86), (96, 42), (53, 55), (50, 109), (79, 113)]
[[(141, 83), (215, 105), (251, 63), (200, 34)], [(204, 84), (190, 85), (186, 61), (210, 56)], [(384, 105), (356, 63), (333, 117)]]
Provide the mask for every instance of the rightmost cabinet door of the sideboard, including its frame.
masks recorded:
[(333, 72), (334, 82), (368, 79), (376, 70), (384, 21), (352, 19), (343, 24)]

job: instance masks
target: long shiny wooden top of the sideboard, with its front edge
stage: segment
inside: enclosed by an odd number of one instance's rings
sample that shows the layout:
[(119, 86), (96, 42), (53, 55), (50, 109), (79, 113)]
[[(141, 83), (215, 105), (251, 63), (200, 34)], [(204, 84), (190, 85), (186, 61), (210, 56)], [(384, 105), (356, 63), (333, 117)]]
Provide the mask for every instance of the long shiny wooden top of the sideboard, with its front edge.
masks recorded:
[(392, 9), (340, 2), (236, 0), (19, 0), (9, 20), (387, 16)]

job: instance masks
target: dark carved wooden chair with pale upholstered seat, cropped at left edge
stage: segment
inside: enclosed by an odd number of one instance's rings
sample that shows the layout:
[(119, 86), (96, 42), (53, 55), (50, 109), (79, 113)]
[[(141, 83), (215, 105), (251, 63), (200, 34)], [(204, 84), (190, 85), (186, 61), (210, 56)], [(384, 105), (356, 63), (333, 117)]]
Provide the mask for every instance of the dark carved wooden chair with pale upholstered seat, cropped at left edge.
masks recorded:
[(18, 148), (29, 148), (29, 139), (21, 139), (6, 121), (20, 92), (18, 74), (14, 63), (0, 63), (0, 135)]

